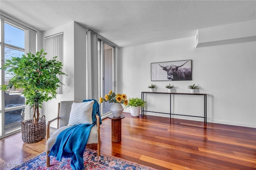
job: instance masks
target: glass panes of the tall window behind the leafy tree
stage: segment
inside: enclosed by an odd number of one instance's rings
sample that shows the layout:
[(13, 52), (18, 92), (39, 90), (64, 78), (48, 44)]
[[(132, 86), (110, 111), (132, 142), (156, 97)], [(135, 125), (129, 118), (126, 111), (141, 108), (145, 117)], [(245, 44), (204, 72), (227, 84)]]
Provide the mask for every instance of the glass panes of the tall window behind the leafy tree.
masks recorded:
[[(25, 46), (25, 32), (23, 29), (4, 21), (4, 37), (1, 38), (4, 46), (4, 61), (12, 57), (22, 57)], [(12, 74), (4, 72), (4, 84), (8, 84)], [(25, 99), (22, 89), (10, 89), (4, 91), (4, 111), (2, 123), (4, 123), (4, 133), (20, 128), (20, 121), (24, 120)], [(4, 118), (4, 119), (3, 119)]]

